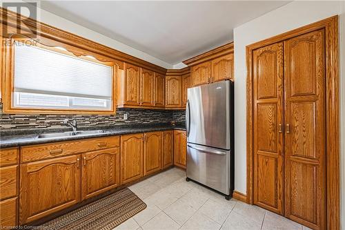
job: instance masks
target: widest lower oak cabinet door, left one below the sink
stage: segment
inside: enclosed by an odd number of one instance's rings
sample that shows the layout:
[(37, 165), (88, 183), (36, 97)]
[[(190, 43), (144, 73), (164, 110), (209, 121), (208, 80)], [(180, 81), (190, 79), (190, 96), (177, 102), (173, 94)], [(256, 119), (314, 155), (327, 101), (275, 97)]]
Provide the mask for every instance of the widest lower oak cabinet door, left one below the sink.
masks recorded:
[(80, 201), (80, 155), (21, 164), (20, 175), (19, 224)]

